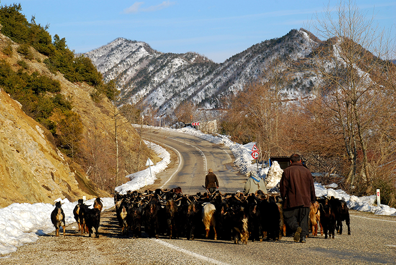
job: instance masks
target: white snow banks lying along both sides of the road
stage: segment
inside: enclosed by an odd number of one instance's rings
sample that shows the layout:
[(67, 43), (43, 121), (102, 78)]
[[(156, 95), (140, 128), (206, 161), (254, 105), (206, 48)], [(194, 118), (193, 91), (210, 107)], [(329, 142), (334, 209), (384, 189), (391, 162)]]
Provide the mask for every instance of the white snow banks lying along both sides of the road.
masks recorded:
[[(235, 156), (235, 165), (239, 168), (242, 174), (246, 174), (251, 170), (257, 170), (255, 164), (252, 164), (251, 148), (254, 143), (246, 145), (232, 142), (229, 138), (223, 135), (213, 136), (201, 133), (192, 128), (183, 129), (165, 129), (158, 128), (166, 131), (174, 131), (179, 133), (188, 133), (190, 135), (197, 136), (201, 139), (210, 141), (215, 144), (223, 144), (231, 149)], [(146, 141), (145, 141), (146, 142)], [(146, 142), (148, 145), (149, 143)], [(152, 184), (155, 180), (155, 175), (167, 168), (170, 163), (169, 153), (159, 145), (151, 143), (151, 148), (162, 158), (156, 165), (151, 166), (151, 175), (149, 169), (141, 172), (128, 175), (130, 181), (116, 187), (116, 191), (119, 193), (126, 193), (128, 190), (136, 190), (145, 185)], [(273, 164), (274, 168), (260, 169), (258, 174), (260, 177), (268, 175), (267, 181), (270, 181), (271, 185), (276, 186), (280, 180), (281, 169), (278, 163)], [(279, 168), (278, 168), (279, 167)], [(337, 184), (331, 184), (322, 186), (321, 184), (315, 183), (315, 191), (318, 197), (321, 196), (334, 196), (345, 200), (348, 204), (349, 209), (357, 211), (371, 212), (376, 215), (389, 215), (396, 216), (396, 209), (391, 208), (387, 205), (375, 205), (376, 196), (356, 197), (350, 196), (345, 191), (337, 189)], [(103, 201), (103, 210), (109, 209), (114, 206), (113, 198), (101, 198)], [(77, 205), (77, 202), (69, 202), (67, 199), (61, 200), (60, 198), (56, 201), (61, 201), (62, 209), (65, 213), (66, 225), (75, 222), (73, 216), (73, 209)], [(87, 205), (92, 205), (94, 199), (85, 202)], [(17, 250), (18, 246), (26, 243), (35, 242), (40, 235), (50, 233), (55, 230), (51, 221), (50, 214), (54, 206), (45, 203), (13, 203), (8, 207), (0, 209), (0, 254), (8, 254)], [(77, 229), (77, 227), (67, 227), (67, 229)], [(0, 258), (1, 259), (1, 258)]]

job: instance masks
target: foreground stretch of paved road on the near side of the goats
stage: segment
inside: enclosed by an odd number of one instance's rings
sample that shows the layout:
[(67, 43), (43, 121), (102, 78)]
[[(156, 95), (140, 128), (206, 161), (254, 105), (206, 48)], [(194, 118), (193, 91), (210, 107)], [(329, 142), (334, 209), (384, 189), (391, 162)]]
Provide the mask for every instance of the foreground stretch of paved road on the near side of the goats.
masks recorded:
[(120, 235), (114, 211), (102, 213), (99, 238), (80, 235), (76, 227), (66, 227), (66, 237), (54, 233), (36, 243), (0, 258), (1, 265), (260, 265), (260, 264), (396, 264), (396, 218), (351, 211), (351, 235), (309, 237), (294, 243), (292, 237), (280, 241), (248, 242), (196, 239), (170, 240), (160, 237), (128, 238)]

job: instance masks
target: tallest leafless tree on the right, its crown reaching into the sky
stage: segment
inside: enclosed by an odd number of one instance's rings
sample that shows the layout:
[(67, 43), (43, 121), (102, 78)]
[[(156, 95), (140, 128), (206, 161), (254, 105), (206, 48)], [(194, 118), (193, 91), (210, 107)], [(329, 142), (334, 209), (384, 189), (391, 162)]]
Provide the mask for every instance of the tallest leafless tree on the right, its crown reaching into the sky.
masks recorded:
[(352, 186), (359, 177), (368, 194), (374, 176), (369, 146), (386, 94), (373, 78), (384, 69), (384, 31), (350, 0), (341, 1), (335, 12), (328, 7), (316, 19), (318, 37), (328, 40), (312, 52), (314, 74), (321, 80), (317, 96), (343, 136), (350, 165), (347, 182)]

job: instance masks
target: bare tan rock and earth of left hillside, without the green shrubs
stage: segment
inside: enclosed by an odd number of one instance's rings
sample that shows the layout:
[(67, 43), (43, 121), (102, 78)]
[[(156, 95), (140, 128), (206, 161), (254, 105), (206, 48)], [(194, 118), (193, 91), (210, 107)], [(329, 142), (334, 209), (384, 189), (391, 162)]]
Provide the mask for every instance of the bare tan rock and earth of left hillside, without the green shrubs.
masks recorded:
[[(2, 50), (9, 43), (14, 52), (7, 56)], [(103, 138), (113, 138), (111, 113), (115, 108), (107, 98), (94, 102), (91, 93), (95, 88), (85, 83), (71, 83), (59, 72), (52, 74), (43, 63), (46, 56), (31, 48), (35, 59), (27, 60), (16, 52), (17, 47), (18, 44), (0, 34), (0, 60), (10, 63), (14, 71), (18, 69), (18, 61), (24, 60), (30, 73), (36, 71), (60, 82), (61, 93), (72, 101), (73, 111), (80, 116), (86, 148), (90, 147), (90, 135), (96, 128), (101, 130)], [(73, 202), (82, 196), (87, 199), (110, 197), (86, 176), (89, 163), (79, 165), (64, 156), (56, 148), (52, 134), (26, 115), (21, 107), (0, 87), (0, 207), (12, 203), (52, 204), (57, 198)], [(119, 123), (123, 124), (119, 129), (120, 145), (125, 141), (135, 142), (138, 134), (132, 125), (123, 117), (119, 118)], [(146, 149), (146, 146), (142, 147), (142, 152)], [(128, 152), (133, 155), (136, 150)], [(157, 161), (155, 156), (151, 159)], [(125, 175), (130, 173), (134, 172), (123, 172)], [(124, 181), (125, 175), (120, 176), (120, 182)]]

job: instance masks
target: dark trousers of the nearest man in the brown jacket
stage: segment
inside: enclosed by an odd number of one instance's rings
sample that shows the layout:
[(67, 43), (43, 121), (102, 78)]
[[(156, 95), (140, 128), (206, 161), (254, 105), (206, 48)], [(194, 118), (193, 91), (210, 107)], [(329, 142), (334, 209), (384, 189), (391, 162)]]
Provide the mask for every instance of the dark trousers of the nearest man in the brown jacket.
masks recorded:
[(309, 207), (297, 207), (292, 209), (283, 209), (283, 220), (290, 229), (295, 232), (297, 227), (301, 227), (301, 236), (307, 236)]

